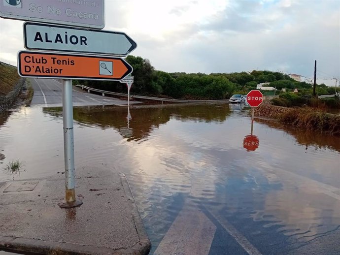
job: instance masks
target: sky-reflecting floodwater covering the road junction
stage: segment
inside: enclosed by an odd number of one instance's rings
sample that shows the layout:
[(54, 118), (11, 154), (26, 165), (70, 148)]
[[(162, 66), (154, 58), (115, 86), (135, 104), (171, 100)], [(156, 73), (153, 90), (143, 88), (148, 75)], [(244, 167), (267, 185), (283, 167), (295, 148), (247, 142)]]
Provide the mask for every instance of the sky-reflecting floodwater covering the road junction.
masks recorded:
[[(339, 137), (264, 119), (251, 135), (249, 110), (227, 104), (73, 115), (76, 171), (102, 165), (127, 176), (150, 254), (340, 254)], [(63, 172), (62, 109), (0, 115), (0, 153), (1, 168), (24, 162), (0, 181)]]

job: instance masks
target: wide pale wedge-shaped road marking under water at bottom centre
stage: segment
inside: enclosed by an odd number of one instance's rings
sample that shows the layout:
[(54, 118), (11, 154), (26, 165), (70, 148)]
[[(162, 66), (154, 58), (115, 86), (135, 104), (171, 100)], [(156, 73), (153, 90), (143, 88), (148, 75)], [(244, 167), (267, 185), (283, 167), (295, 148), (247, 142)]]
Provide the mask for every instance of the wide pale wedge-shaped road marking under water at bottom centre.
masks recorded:
[(170, 226), (154, 255), (209, 254), (216, 226), (193, 205), (185, 205)]

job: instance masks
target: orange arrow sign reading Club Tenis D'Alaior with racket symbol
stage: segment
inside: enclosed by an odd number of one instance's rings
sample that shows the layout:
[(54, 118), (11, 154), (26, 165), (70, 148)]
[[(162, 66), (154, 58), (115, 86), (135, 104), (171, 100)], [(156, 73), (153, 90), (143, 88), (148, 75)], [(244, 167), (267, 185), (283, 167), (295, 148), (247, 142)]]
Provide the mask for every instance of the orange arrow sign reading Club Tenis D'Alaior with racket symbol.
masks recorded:
[(132, 71), (132, 66), (121, 58), (18, 52), (18, 72), (22, 77), (118, 81)]

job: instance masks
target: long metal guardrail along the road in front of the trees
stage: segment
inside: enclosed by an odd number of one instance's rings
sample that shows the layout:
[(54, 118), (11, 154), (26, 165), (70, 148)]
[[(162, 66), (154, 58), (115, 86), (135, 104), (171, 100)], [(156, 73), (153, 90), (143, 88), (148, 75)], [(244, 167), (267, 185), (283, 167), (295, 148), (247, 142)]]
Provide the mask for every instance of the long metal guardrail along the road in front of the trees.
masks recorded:
[[(112, 95), (112, 96), (126, 96), (128, 97), (127, 94), (123, 93), (116, 93), (116, 92), (110, 92), (110, 91), (104, 91), (104, 90), (98, 90), (94, 89), (91, 87), (87, 87), (84, 85), (76, 85), (76, 87), (81, 88), (82, 90), (87, 90), (88, 93), (91, 91), (102, 93), (102, 96), (107, 95)], [(176, 103), (229, 103), (229, 99), (222, 99), (222, 100), (182, 100), (182, 99), (170, 99), (170, 98), (162, 98), (162, 97), (151, 97), (151, 96), (135, 96), (135, 95), (130, 95), (133, 98), (138, 98), (138, 99), (144, 99), (144, 100), (155, 100), (155, 101), (162, 101), (162, 102), (176, 102)]]

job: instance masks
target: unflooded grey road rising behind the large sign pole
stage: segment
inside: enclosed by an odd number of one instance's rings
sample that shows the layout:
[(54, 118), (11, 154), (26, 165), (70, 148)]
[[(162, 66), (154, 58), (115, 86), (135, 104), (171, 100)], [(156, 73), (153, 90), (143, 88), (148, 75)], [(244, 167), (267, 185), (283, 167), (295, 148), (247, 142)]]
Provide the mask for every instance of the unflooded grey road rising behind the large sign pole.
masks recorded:
[[(34, 89), (31, 105), (62, 106), (62, 81), (59, 79), (30, 79)], [(72, 89), (73, 105), (127, 105), (127, 100), (86, 93), (79, 88)], [(131, 104), (138, 103), (130, 101)]]

